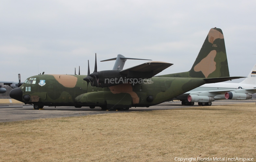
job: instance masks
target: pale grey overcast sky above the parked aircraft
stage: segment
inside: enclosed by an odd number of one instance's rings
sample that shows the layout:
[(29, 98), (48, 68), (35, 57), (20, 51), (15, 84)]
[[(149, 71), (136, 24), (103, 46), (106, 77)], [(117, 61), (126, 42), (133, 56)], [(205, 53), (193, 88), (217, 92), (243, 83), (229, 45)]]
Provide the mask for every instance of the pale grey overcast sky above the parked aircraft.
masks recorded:
[[(256, 1), (5, 1), (0, 0), (0, 80), (42, 73), (74, 74), (87, 60), (111, 70), (116, 57), (174, 65), (189, 71), (212, 27), (222, 29), (230, 76), (247, 76), (256, 63)], [(124, 69), (145, 61), (127, 60)], [(78, 70), (77, 70), (78, 73)], [(241, 81), (241, 80), (240, 80)]]

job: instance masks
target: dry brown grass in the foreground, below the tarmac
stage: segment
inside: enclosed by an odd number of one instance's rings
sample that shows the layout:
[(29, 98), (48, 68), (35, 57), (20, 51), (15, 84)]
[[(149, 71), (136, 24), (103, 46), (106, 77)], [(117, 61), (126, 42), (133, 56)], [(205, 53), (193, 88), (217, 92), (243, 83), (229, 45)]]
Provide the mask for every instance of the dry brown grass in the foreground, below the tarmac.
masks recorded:
[(255, 159), (255, 118), (246, 103), (5, 122), (0, 161)]

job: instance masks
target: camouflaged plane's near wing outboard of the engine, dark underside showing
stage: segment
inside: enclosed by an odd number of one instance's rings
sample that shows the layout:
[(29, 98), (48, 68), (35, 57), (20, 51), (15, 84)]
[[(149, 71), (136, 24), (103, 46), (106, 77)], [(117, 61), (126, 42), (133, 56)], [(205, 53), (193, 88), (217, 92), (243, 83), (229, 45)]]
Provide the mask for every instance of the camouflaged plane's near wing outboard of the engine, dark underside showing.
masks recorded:
[(151, 61), (121, 70), (120, 73), (131, 78), (151, 78), (172, 65), (172, 63), (167, 62)]

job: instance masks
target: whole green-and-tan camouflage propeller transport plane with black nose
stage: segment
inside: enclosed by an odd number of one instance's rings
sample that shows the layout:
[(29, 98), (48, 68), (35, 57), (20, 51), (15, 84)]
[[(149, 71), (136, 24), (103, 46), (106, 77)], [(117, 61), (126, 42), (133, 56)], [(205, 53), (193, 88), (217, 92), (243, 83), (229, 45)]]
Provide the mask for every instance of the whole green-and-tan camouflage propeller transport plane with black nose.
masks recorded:
[[(113, 60), (113, 59), (112, 59)], [(171, 63), (150, 61), (124, 70), (90, 74), (44, 74), (29, 77), (10, 97), (34, 109), (43, 106), (95, 106), (103, 110), (128, 110), (168, 101), (206, 83), (241, 78), (229, 77), (224, 37), (221, 29), (210, 29), (190, 71), (155, 76)], [(117, 67), (116, 67), (117, 68)]]

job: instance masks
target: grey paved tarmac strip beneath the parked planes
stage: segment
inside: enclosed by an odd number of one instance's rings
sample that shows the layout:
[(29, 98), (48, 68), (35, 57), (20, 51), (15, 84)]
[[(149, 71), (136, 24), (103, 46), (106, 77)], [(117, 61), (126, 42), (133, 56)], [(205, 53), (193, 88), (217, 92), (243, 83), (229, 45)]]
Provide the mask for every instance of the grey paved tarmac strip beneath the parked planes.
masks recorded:
[[(255, 100), (220, 100), (212, 102), (212, 105), (227, 105), (238, 103), (255, 102)], [(121, 113), (131, 111), (151, 111), (151, 110), (170, 110), (174, 108), (198, 107), (197, 103), (194, 106), (181, 105), (181, 101), (174, 101), (168, 103), (161, 103), (159, 105), (146, 107), (132, 107), (128, 111), (103, 111), (101, 108), (90, 109), (89, 107), (75, 108), (71, 106), (48, 107), (45, 106), (44, 110), (34, 110), (32, 105), (23, 104), (0, 104), (0, 122), (7, 121), (22, 121), (34, 120), (42, 118), (60, 118), (71, 116), (85, 116), (93, 114), (108, 114), (108, 113)], [(205, 106), (208, 107), (208, 106)]]

